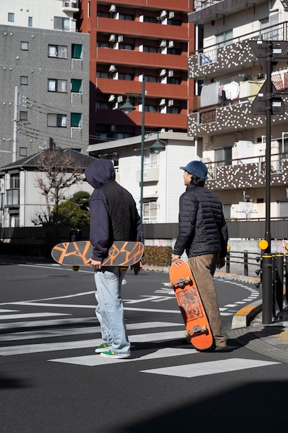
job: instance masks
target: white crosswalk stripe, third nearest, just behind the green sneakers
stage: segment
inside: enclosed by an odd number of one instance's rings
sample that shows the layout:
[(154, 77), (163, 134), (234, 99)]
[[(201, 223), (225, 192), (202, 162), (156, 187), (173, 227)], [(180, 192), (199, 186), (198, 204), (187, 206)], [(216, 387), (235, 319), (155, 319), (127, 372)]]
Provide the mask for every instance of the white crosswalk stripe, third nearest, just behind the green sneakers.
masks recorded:
[[(175, 340), (184, 338), (183, 331), (169, 331), (159, 333), (146, 333), (129, 335), (131, 342), (151, 342), (162, 340)], [(96, 347), (102, 343), (102, 339), (78, 340), (71, 342), (53, 342), (44, 344), (23, 344), (21, 346), (1, 347), (0, 356), (23, 355), (27, 353), (40, 353), (59, 350), (83, 349), (85, 347)]]

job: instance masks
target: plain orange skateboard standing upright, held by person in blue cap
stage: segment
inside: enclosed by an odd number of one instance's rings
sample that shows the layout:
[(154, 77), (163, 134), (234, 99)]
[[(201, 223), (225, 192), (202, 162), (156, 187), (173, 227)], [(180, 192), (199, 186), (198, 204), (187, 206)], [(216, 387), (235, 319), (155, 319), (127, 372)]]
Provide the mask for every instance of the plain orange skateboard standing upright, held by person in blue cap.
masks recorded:
[(178, 267), (171, 264), (169, 277), (186, 327), (186, 338), (196, 349), (209, 349), (213, 335), (189, 264), (186, 261)]

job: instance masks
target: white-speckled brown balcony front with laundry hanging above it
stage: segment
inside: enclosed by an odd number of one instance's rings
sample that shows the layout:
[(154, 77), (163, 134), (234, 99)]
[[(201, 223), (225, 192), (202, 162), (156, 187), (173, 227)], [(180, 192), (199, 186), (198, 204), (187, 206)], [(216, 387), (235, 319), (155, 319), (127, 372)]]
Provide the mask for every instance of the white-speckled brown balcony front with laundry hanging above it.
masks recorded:
[[(198, 109), (188, 116), (188, 135), (207, 136), (229, 133), (231, 131), (241, 131), (241, 129), (253, 129), (255, 127), (265, 127), (266, 116), (254, 115), (251, 112), (253, 99), (238, 100), (237, 104), (217, 105)], [(285, 113), (288, 113), (288, 98), (282, 98), (285, 102)], [(287, 122), (288, 115), (272, 116), (273, 125)]]

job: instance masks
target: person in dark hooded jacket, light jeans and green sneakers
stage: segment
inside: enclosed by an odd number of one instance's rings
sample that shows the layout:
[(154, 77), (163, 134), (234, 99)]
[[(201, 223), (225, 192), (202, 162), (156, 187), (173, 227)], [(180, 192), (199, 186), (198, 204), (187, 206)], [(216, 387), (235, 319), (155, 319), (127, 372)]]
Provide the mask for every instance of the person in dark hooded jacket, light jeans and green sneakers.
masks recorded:
[[(102, 266), (114, 241), (140, 241), (141, 221), (130, 192), (115, 181), (111, 160), (97, 159), (85, 171), (86, 181), (95, 188), (90, 196), (90, 242), (93, 255), (88, 263), (95, 269), (95, 313), (103, 343), (95, 349), (104, 358), (128, 358), (131, 345), (124, 324), (121, 286), (125, 271)], [(135, 275), (141, 261), (133, 266)]]

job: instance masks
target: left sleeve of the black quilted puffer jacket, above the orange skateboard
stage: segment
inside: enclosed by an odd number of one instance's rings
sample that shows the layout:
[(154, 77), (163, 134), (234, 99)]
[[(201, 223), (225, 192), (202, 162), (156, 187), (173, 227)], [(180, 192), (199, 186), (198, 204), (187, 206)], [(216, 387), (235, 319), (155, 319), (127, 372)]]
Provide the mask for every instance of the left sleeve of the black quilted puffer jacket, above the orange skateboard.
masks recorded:
[(177, 241), (173, 253), (182, 255), (189, 248), (195, 235), (195, 223), (198, 210), (198, 202), (190, 194), (182, 194), (179, 202), (179, 226)]

